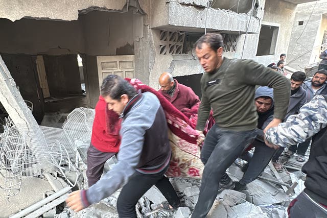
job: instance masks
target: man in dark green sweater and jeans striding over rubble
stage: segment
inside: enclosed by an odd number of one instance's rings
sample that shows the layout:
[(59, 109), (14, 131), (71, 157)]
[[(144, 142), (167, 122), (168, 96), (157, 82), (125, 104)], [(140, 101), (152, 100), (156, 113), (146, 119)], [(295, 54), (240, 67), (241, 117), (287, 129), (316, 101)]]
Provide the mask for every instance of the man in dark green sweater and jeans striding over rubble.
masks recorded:
[[(196, 129), (201, 134), (211, 108), (216, 124), (198, 139), (204, 140), (201, 160), (205, 164), (199, 200), (192, 217), (205, 217), (218, 193), (226, 169), (256, 136), (258, 115), (253, 104), (255, 85), (274, 88), (274, 118), (266, 127), (277, 126), (286, 115), (290, 83), (282, 75), (252, 60), (223, 57), (223, 37), (207, 33), (195, 43), (195, 52), (205, 73)], [(232, 186), (230, 181), (230, 186)]]

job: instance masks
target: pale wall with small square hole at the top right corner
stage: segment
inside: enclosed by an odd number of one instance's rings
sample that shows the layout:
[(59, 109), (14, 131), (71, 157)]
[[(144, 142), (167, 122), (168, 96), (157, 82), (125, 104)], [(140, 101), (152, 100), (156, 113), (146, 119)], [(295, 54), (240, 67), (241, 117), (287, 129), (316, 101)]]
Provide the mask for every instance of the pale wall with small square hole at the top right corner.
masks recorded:
[(287, 53), (291, 67), (303, 70), (306, 65), (320, 61), (320, 45), (327, 30), (325, 14), (326, 0), (298, 5)]

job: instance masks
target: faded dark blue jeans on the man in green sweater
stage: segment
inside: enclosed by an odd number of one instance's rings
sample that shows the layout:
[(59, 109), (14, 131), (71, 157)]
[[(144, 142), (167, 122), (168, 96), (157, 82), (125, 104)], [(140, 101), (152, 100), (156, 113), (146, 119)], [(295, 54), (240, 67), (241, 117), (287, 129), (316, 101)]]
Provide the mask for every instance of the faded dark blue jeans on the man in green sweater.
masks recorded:
[(236, 132), (214, 125), (209, 130), (201, 151), (201, 160), (205, 165), (199, 200), (192, 217), (201, 218), (207, 215), (217, 197), (218, 184), (226, 174), (226, 169), (241, 155), (255, 136), (255, 129)]

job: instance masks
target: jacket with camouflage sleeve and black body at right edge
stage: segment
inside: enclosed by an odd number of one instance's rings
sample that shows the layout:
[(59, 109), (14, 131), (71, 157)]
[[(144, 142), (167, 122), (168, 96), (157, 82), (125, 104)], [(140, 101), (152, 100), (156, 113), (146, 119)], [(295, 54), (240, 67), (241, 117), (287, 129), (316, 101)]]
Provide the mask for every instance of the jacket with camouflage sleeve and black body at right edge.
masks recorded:
[(302, 166), (307, 174), (305, 192), (312, 200), (327, 205), (327, 95), (317, 95), (286, 123), (269, 129), (267, 140), (289, 147), (312, 137), (309, 160)]

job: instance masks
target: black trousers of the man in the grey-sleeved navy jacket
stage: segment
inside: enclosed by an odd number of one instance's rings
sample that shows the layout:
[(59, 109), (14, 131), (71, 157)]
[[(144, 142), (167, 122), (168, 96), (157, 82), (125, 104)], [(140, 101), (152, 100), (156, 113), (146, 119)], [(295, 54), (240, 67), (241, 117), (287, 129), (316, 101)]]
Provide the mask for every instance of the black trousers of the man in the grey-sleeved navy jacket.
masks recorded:
[(179, 198), (169, 179), (164, 175), (168, 166), (160, 173), (145, 175), (135, 172), (124, 185), (117, 201), (117, 210), (120, 218), (136, 217), (135, 205), (147, 190), (155, 185), (165, 196), (171, 206), (177, 208)]

